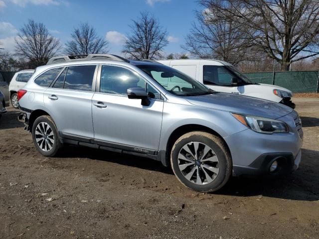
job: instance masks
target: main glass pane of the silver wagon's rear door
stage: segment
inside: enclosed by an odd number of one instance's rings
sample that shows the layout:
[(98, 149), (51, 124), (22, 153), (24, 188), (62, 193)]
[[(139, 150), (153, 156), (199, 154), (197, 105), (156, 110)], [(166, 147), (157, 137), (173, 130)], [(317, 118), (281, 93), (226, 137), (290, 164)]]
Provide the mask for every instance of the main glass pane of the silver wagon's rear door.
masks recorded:
[(68, 67), (64, 81), (64, 89), (92, 91), (95, 68), (95, 65)]

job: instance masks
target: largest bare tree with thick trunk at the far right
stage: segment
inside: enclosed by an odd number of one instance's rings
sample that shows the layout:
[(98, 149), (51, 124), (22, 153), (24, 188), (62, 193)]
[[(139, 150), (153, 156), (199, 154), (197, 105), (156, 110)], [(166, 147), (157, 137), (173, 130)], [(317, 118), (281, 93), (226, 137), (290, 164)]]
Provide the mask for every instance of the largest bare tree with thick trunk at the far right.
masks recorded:
[[(240, 19), (242, 29), (261, 52), (291, 63), (319, 54), (318, 0), (201, 0), (221, 19)], [(249, 31), (247, 31), (249, 29)]]

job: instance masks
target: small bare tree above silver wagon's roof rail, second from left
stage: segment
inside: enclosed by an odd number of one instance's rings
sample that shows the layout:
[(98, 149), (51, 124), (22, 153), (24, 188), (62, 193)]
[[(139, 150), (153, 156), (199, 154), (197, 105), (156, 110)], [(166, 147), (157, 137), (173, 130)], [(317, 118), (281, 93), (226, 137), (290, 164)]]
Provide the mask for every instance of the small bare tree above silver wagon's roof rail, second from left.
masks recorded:
[(64, 53), (67, 55), (86, 55), (108, 53), (108, 41), (98, 36), (94, 27), (88, 23), (81, 23), (71, 33), (72, 40), (65, 45)]

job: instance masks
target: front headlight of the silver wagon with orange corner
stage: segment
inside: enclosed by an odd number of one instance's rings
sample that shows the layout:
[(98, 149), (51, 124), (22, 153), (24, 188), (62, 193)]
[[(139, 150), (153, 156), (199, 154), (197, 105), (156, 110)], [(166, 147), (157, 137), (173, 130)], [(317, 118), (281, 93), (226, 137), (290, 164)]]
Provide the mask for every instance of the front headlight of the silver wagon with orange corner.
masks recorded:
[(287, 133), (288, 126), (285, 122), (277, 119), (268, 119), (259, 116), (241, 115), (231, 113), (238, 121), (259, 133)]

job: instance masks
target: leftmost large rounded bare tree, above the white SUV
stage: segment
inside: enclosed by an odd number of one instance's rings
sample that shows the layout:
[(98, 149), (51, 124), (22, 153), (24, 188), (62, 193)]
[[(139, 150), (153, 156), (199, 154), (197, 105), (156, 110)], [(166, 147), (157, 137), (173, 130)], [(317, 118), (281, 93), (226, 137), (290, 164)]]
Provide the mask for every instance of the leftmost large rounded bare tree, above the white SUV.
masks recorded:
[(49, 35), (43, 23), (29, 20), (15, 39), (15, 55), (26, 58), (35, 68), (46, 64), (60, 50), (60, 41)]

